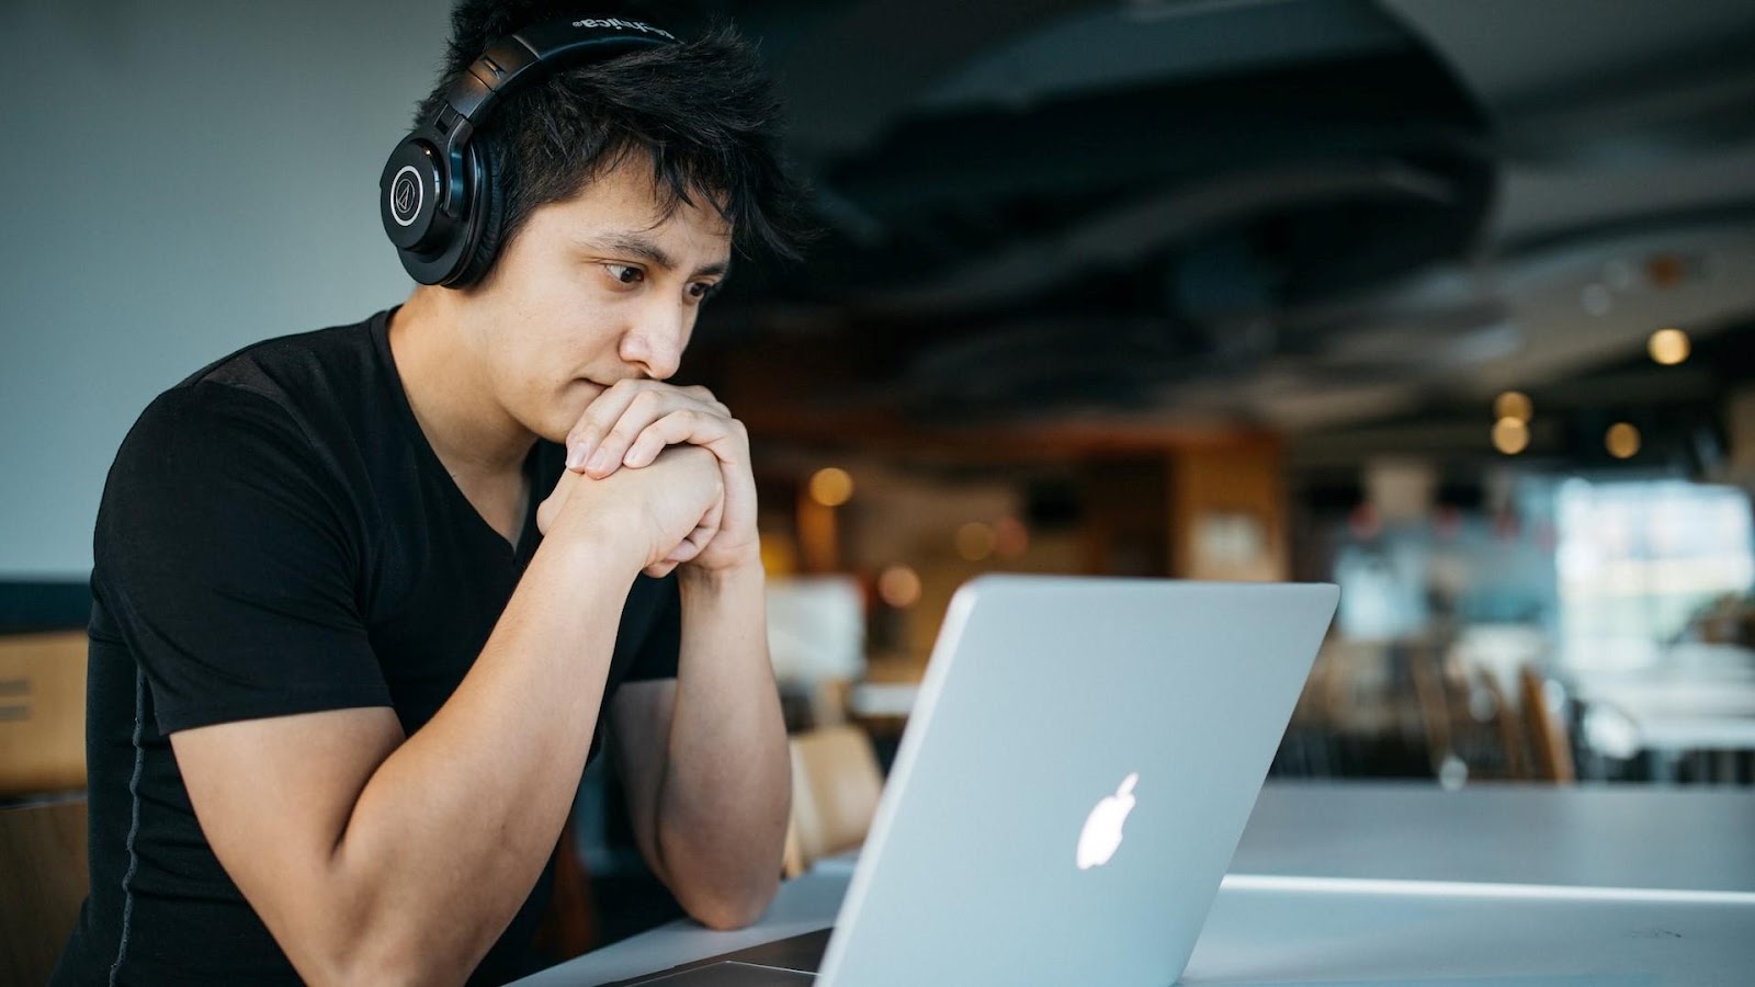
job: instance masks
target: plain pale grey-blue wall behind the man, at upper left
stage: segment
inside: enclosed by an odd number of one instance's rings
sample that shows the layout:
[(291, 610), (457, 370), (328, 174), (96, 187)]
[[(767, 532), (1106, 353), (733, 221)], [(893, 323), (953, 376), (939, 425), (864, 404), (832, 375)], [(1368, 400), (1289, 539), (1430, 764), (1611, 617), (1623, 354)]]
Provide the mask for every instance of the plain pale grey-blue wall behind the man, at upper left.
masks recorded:
[(0, 580), (84, 578), (140, 409), (411, 286), (377, 172), (446, 0), (0, 0)]

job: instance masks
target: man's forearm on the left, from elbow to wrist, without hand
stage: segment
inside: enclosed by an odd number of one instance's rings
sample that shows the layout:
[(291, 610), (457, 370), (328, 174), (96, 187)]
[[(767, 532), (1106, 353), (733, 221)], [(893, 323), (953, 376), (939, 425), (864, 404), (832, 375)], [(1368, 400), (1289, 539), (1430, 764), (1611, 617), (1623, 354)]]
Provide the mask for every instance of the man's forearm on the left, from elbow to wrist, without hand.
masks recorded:
[(360, 792), (328, 875), (358, 968), (462, 980), (546, 866), (632, 583), (581, 548), (537, 551), (458, 690)]

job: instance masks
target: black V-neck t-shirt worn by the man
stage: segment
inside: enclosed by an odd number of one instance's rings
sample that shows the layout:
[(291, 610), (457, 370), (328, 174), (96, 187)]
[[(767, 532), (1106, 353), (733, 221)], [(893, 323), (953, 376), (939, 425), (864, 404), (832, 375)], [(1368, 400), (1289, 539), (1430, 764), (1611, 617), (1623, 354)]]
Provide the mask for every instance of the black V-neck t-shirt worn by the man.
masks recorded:
[[(426, 444), (388, 325), (242, 349), (160, 395), (123, 441), (91, 573), (91, 894), (53, 983), (297, 983), (202, 836), (167, 736), (358, 706), (391, 706), (414, 734), (535, 551), (563, 450), (537, 443), (525, 462), (514, 550)], [(674, 578), (635, 580), (605, 708), (621, 681), (676, 676), (679, 634)], [(528, 971), (549, 882), (472, 983)]]

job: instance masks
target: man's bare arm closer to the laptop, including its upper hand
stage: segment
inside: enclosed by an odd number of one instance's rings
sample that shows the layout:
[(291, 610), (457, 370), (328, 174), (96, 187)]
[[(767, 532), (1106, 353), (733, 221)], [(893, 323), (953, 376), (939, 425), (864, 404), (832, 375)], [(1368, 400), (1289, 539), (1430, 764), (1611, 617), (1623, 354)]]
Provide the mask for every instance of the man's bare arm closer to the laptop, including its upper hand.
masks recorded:
[(598, 476), (639, 472), (677, 443), (720, 460), (723, 511), (718, 530), (677, 567), (676, 683), (625, 687), (612, 725), (642, 854), (690, 915), (728, 929), (755, 922), (774, 897), (792, 801), (749, 436), (706, 388), (623, 381), (591, 402), (569, 437), (581, 460), (604, 453), (586, 467)]

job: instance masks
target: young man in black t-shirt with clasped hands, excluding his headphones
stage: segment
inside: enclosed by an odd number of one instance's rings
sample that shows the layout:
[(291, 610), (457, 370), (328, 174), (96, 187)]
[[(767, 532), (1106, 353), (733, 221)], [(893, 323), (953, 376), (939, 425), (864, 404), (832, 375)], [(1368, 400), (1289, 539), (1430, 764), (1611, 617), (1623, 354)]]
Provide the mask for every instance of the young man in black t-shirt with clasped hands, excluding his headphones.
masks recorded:
[[(556, 16), (462, 4), (421, 118)], [(735, 927), (772, 896), (790, 785), (748, 439), (665, 383), (734, 241), (786, 249), (770, 90), (714, 32), (488, 116), (484, 277), (235, 353), (123, 443), (91, 896), (54, 983), (525, 973), (600, 739), (690, 915)]]

